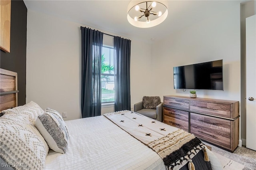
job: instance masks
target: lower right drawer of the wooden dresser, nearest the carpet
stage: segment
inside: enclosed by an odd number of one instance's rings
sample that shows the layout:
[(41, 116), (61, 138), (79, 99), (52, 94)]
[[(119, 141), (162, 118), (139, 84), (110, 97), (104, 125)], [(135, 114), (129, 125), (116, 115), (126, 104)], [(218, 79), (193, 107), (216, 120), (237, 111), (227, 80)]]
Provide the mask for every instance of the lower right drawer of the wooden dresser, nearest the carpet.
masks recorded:
[(225, 119), (190, 113), (190, 133), (230, 149), (231, 122)]

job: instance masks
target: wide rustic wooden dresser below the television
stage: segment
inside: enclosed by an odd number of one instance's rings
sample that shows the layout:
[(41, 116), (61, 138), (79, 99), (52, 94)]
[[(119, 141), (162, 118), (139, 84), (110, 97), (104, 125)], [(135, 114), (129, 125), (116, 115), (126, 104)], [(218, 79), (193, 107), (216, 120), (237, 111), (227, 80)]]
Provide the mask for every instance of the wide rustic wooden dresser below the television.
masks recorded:
[(234, 152), (239, 142), (239, 101), (164, 96), (164, 123)]

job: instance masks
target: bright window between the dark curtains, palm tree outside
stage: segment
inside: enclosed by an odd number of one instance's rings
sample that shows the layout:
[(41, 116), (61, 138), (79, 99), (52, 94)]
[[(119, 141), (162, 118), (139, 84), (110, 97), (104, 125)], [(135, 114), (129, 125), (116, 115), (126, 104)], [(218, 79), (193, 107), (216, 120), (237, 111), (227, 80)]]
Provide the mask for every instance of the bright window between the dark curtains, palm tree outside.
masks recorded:
[(101, 58), (102, 103), (115, 101), (114, 47), (103, 46)]

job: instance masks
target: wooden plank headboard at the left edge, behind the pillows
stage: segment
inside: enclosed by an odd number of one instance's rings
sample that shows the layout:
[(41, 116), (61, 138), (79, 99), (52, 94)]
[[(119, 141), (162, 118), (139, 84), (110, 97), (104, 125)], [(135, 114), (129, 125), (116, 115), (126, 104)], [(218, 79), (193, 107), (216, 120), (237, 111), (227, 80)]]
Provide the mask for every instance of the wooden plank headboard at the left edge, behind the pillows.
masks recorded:
[(17, 73), (0, 69), (0, 111), (18, 106), (17, 79)]

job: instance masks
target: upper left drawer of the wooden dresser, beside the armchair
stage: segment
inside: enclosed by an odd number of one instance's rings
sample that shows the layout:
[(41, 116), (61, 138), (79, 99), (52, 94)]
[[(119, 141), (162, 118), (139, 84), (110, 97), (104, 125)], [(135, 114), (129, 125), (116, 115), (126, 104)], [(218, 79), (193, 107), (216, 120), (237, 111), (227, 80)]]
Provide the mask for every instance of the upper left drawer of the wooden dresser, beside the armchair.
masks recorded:
[(189, 100), (172, 97), (164, 97), (164, 106), (189, 110)]

